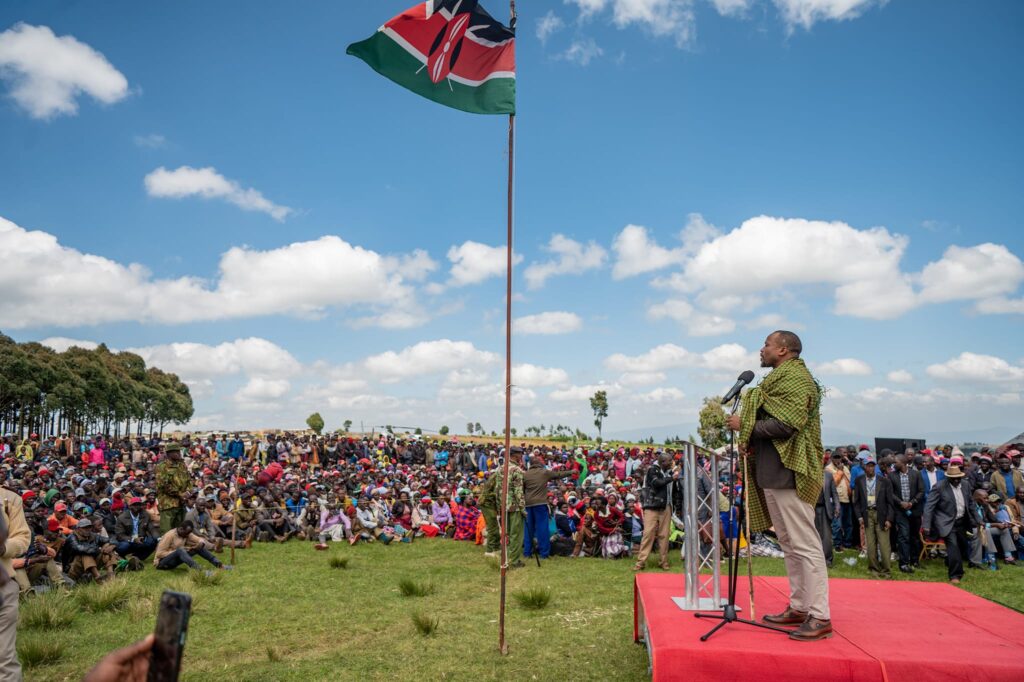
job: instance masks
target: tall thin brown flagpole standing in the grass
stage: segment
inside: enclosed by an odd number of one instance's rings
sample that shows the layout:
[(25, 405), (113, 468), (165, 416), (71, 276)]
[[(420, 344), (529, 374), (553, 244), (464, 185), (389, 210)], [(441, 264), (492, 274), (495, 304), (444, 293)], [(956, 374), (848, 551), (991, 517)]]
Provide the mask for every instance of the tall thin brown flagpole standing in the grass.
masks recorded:
[[(509, 0), (509, 28), (515, 31), (515, 0)], [(506, 204), (507, 236), (505, 243), (505, 460), (502, 463), (501, 509), (501, 589), (498, 606), (498, 649), (502, 655), (509, 652), (505, 641), (505, 583), (509, 567), (509, 460), (512, 457), (512, 188), (515, 171), (515, 114), (509, 114), (509, 169), (508, 198)]]

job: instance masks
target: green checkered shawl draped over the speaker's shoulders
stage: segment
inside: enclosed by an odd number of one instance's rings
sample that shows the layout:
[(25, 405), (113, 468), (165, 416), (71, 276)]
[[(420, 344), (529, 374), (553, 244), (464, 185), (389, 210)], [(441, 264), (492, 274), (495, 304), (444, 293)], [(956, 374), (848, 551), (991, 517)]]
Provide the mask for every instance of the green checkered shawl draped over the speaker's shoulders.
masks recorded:
[[(799, 357), (788, 359), (768, 373), (761, 385), (743, 395), (740, 414), (739, 442), (748, 444), (757, 421), (758, 410), (764, 409), (775, 419), (797, 429), (784, 440), (773, 439), (782, 465), (793, 470), (797, 479), (797, 495), (814, 506), (821, 493), (821, 389), (807, 365)], [(771, 517), (765, 504), (764, 491), (758, 487), (755, 458), (748, 458), (751, 495), (748, 506), (752, 532), (771, 527)]]

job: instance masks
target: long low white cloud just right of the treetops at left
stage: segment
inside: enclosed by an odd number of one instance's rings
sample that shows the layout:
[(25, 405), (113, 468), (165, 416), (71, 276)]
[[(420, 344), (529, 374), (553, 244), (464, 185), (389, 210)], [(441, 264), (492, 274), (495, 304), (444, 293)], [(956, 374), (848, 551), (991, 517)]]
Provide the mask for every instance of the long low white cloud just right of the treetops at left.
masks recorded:
[(257, 337), (205, 343), (167, 343), (128, 348), (146, 365), (189, 379), (244, 373), (252, 377), (283, 378), (297, 374), (302, 366), (278, 344)]

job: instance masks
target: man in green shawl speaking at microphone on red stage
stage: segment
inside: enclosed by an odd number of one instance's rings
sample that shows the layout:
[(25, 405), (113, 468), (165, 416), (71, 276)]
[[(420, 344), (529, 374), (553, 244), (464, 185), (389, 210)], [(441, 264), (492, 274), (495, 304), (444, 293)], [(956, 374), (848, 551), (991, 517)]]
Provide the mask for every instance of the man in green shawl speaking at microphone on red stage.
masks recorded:
[(765, 339), (761, 367), (772, 368), (757, 388), (743, 396), (729, 428), (739, 431), (748, 458), (750, 531), (774, 526), (790, 579), (790, 605), (766, 615), (773, 625), (800, 626), (798, 641), (831, 637), (828, 569), (814, 527), (814, 505), (821, 493), (821, 387), (801, 359), (803, 346), (793, 332)]

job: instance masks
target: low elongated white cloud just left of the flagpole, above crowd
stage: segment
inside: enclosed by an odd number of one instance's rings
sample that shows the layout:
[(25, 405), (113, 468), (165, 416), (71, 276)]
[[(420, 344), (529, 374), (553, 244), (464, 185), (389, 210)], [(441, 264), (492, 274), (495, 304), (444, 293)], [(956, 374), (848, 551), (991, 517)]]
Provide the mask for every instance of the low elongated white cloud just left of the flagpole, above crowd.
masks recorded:
[(384, 382), (395, 382), (422, 375), (439, 374), (467, 367), (497, 365), (496, 353), (477, 350), (469, 341), (421, 341), (398, 352), (371, 355), (362, 360), (362, 368)]

